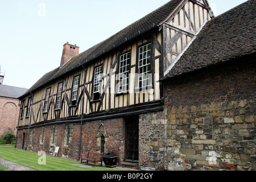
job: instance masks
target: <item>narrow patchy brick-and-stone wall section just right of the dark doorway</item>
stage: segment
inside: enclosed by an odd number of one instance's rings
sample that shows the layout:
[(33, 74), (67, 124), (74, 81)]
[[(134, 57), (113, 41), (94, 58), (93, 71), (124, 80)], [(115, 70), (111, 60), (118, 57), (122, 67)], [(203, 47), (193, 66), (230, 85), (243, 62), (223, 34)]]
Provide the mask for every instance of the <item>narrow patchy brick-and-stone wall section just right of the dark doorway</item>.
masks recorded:
[(139, 167), (166, 170), (166, 117), (163, 111), (139, 117)]

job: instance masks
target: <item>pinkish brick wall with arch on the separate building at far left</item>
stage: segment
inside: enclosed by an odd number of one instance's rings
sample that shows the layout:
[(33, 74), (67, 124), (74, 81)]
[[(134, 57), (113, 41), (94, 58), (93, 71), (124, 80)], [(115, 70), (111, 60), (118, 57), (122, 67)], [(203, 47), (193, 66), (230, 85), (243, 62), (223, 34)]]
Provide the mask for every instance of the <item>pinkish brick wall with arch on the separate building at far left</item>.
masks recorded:
[(19, 117), (19, 100), (14, 98), (0, 97), (0, 137), (13, 131), (16, 134)]

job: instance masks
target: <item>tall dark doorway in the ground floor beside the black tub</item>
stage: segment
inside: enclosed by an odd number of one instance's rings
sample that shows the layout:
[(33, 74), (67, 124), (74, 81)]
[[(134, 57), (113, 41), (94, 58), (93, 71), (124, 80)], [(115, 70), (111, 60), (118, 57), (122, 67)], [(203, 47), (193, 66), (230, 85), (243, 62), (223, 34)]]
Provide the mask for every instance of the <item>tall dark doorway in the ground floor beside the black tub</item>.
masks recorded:
[(139, 117), (125, 119), (126, 147), (125, 161), (138, 163), (139, 160)]

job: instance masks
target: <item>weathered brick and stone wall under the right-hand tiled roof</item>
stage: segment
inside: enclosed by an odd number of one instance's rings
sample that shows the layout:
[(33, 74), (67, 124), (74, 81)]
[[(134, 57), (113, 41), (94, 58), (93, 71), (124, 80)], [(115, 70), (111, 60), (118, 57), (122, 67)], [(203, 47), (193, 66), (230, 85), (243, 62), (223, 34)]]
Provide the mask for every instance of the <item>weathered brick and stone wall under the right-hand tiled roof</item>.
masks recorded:
[(168, 81), (168, 169), (255, 170), (255, 61)]

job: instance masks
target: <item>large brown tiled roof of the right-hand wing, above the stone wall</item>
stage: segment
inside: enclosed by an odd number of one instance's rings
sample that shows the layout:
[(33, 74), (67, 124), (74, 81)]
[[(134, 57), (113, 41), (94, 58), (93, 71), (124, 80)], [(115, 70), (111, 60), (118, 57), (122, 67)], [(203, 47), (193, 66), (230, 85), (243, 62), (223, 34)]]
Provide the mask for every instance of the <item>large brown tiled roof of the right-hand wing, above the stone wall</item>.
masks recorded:
[(249, 0), (210, 20), (164, 79), (255, 53), (255, 5)]

